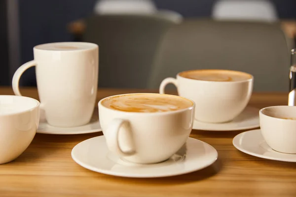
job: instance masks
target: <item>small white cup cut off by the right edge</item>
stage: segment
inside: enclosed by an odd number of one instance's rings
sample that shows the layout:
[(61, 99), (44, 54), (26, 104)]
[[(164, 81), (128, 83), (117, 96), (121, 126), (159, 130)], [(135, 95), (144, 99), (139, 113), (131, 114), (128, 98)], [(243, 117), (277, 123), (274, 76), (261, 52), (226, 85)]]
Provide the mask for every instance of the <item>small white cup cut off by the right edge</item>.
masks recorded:
[(268, 146), (296, 154), (296, 106), (270, 106), (259, 111), (260, 130)]

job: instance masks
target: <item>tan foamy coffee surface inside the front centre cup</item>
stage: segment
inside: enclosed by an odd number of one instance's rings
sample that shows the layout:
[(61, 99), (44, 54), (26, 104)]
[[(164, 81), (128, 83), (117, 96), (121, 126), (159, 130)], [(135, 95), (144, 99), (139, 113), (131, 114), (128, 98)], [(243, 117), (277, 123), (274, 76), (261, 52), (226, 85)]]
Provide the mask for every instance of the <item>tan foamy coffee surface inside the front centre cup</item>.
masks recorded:
[(102, 105), (126, 112), (166, 112), (185, 109), (193, 105), (188, 99), (159, 94), (131, 94), (110, 97)]

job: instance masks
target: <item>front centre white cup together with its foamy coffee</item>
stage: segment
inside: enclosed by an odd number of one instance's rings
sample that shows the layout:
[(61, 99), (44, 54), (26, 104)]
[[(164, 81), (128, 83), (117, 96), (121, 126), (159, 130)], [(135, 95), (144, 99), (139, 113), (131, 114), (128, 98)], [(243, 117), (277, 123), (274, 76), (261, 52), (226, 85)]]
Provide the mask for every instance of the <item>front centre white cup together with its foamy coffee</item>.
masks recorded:
[(107, 97), (98, 106), (109, 150), (138, 164), (173, 156), (192, 130), (195, 108), (179, 96), (144, 93)]

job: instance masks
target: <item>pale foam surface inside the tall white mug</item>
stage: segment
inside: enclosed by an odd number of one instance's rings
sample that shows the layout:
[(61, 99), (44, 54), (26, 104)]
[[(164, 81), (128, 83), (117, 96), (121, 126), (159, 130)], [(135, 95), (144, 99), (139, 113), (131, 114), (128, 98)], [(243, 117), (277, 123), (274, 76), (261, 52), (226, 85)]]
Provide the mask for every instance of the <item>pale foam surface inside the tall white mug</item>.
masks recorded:
[(49, 51), (75, 51), (93, 49), (97, 45), (85, 42), (55, 42), (37, 45), (36, 49), (49, 50)]

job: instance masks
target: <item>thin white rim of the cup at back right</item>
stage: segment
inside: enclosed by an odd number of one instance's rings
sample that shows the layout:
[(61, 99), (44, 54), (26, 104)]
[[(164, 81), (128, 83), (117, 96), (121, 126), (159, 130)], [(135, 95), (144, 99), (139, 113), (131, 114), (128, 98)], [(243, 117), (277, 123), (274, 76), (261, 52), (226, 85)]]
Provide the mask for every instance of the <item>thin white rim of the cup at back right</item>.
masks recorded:
[[(249, 75), (250, 79), (244, 79), (244, 80), (240, 80), (240, 81), (205, 81), (205, 80), (199, 80), (199, 79), (190, 79), (190, 78), (186, 78), (181, 76), (181, 73), (184, 72), (193, 72), (193, 71), (229, 71), (229, 72), (236, 72), (236, 73), (241, 73), (241, 74), (245, 74), (245, 75)], [(243, 82), (248, 82), (248, 81), (253, 81), (254, 80), (254, 76), (248, 72), (243, 72), (243, 71), (238, 71), (238, 70), (228, 70), (228, 69), (192, 69), (192, 70), (184, 70), (181, 71), (177, 74), (177, 77), (186, 79), (186, 80), (191, 80), (191, 81), (198, 81), (198, 82), (202, 82), (202, 83), (224, 83), (224, 84), (234, 84), (234, 83), (243, 83)]]

